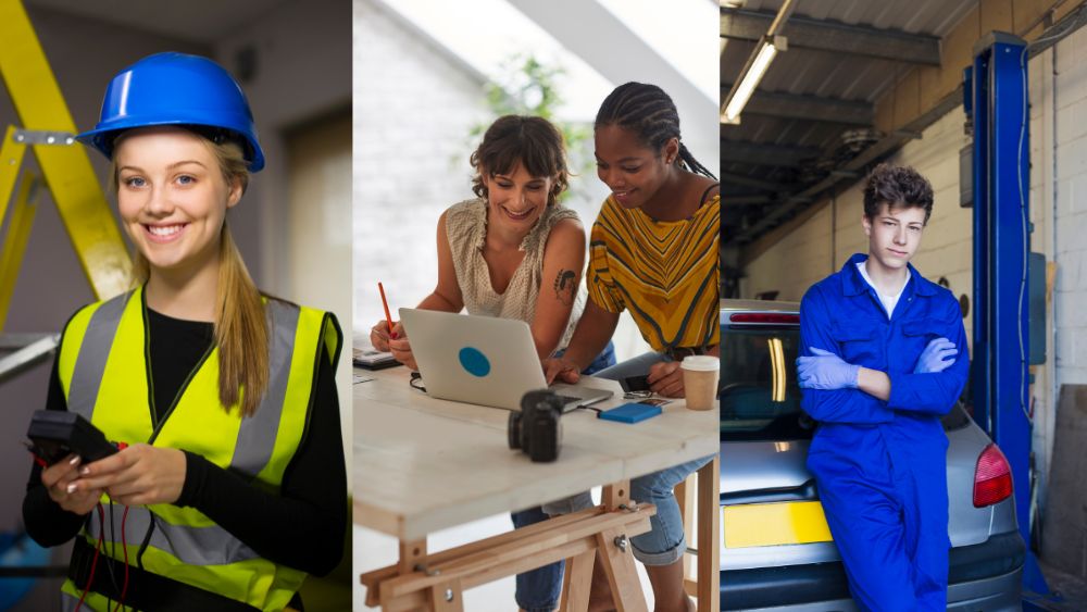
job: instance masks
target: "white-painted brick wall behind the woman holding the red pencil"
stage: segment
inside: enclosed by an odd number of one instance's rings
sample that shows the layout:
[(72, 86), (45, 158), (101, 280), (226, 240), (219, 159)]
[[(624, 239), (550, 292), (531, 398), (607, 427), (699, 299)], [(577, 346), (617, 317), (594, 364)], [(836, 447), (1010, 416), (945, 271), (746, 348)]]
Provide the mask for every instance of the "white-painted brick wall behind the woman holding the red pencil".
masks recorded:
[[(437, 279), (438, 215), (471, 197), (480, 83), (373, 0), (354, 1), (354, 328), (414, 307)], [(396, 314), (393, 313), (396, 317)]]

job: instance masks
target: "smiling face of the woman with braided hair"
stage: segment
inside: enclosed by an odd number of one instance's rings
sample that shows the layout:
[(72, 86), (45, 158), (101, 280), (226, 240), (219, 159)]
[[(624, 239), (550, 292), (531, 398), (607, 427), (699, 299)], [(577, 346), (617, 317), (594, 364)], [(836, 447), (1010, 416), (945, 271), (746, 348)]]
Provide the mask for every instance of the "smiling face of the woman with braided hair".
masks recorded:
[(597, 176), (625, 209), (648, 202), (667, 179), (678, 153), (678, 141), (669, 140), (660, 151), (647, 147), (630, 129), (614, 124), (594, 132)]

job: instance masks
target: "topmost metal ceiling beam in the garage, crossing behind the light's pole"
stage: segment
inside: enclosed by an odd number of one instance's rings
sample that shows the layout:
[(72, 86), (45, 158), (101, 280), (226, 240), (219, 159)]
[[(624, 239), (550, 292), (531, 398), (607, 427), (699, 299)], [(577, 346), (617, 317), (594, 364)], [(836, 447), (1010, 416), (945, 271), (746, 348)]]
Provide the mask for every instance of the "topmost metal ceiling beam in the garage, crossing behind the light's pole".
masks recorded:
[[(774, 21), (774, 13), (721, 9), (721, 36), (759, 40)], [(940, 65), (940, 39), (898, 29), (848, 25), (794, 14), (785, 24), (789, 48), (851, 53), (911, 64)]]

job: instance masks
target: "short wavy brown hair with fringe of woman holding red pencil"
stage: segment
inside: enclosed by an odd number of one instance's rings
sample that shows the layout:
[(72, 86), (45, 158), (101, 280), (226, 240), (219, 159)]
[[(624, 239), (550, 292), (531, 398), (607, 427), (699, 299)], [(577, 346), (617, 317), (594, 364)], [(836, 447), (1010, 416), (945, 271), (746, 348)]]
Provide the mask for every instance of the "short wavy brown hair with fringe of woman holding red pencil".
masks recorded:
[(542, 117), (505, 115), (492, 123), (483, 135), (483, 142), (468, 159), (476, 174), (472, 191), (487, 197), (483, 173), (493, 177), (509, 174), (521, 165), (534, 178), (552, 178), (548, 203), (555, 201), (570, 184), (566, 148), (562, 133)]

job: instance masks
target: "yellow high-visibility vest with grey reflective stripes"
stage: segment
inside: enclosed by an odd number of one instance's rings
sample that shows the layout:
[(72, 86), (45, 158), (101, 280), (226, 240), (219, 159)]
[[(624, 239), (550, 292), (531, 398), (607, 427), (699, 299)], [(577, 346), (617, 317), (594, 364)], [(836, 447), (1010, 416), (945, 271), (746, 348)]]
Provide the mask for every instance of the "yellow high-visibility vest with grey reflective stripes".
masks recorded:
[[(184, 449), (202, 455), (261, 487), (278, 491), (284, 470), (305, 430), (320, 359), (335, 367), (341, 333), (330, 313), (266, 300), (268, 385), (255, 414), (242, 419), (238, 407), (218, 400), (218, 348), (212, 348), (190, 374), (173, 407), (155, 426), (149, 404), (147, 307), (142, 289), (85, 307), (72, 317), (61, 340), (58, 373), (67, 409), (127, 444)], [(102, 505), (110, 503), (102, 496)], [(101, 553), (124, 561), (123, 509), (105, 513)], [(153, 523), (153, 525), (152, 525)], [(245, 542), (195, 508), (173, 504), (132, 507), (125, 522), (129, 563), (150, 532), (143, 570), (260, 610), (282, 610), (302, 585), (299, 570), (261, 558)], [(91, 547), (100, 536), (98, 520), (76, 537)], [(85, 585), (62, 587), (65, 607), (74, 607)], [(85, 609), (103, 610), (104, 597), (89, 592)]]

